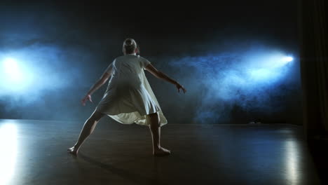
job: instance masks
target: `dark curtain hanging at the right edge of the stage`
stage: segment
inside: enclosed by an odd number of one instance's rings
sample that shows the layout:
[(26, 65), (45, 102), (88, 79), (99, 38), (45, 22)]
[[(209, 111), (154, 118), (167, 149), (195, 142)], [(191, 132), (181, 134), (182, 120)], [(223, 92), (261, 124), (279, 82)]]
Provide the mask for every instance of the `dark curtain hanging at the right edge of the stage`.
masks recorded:
[(328, 132), (327, 0), (299, 1), (303, 125), (307, 139)]

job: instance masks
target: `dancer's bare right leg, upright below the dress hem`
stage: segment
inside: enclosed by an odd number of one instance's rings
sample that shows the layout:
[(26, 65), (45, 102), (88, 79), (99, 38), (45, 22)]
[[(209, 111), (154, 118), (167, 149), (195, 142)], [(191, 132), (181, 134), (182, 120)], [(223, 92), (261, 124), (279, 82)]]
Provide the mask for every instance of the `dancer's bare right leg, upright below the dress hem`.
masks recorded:
[(164, 149), (160, 146), (160, 120), (158, 113), (148, 115), (151, 121), (149, 125), (151, 131), (151, 137), (153, 139), (153, 155), (155, 156), (166, 156), (170, 154), (168, 149)]

